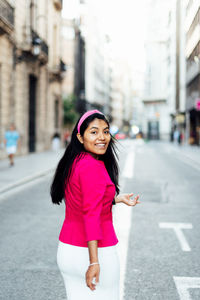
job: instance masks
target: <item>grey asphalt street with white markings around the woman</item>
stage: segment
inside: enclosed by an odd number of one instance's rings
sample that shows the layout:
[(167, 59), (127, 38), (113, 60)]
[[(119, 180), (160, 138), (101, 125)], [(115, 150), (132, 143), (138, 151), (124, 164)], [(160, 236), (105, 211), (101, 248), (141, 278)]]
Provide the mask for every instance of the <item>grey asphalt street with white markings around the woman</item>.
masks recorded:
[[(141, 201), (114, 208), (123, 299), (200, 299), (200, 159), (164, 142), (120, 144), (121, 192)], [(65, 299), (56, 265), (64, 205), (51, 204), (51, 178), (0, 196), (2, 300)]]

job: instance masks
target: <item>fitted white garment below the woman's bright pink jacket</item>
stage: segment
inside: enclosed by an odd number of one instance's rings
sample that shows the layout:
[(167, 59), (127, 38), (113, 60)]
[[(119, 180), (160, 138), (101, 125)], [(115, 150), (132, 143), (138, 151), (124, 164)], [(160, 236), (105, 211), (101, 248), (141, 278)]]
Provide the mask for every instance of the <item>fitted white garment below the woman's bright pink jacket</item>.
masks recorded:
[(119, 259), (116, 246), (98, 248), (99, 283), (91, 291), (85, 281), (89, 265), (87, 247), (59, 242), (57, 263), (63, 276), (67, 300), (119, 300)]

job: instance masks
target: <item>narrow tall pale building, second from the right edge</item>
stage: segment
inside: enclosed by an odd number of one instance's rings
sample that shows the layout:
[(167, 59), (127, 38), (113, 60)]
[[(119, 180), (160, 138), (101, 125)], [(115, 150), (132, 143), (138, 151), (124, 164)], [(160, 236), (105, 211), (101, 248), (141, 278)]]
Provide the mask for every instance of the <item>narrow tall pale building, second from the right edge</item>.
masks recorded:
[(174, 137), (179, 133), (182, 137), (182, 142), (187, 140), (185, 118), (186, 63), (184, 22), (184, 1), (172, 1), (168, 14), (167, 101), (171, 116), (170, 140), (174, 141)]

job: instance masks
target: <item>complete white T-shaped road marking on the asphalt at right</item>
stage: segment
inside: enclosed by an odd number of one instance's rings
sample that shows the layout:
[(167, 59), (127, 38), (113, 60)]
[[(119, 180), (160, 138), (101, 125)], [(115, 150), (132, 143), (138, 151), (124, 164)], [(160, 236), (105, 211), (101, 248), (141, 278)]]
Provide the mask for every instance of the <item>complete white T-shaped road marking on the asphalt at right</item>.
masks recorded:
[(160, 228), (173, 229), (183, 251), (191, 251), (191, 248), (182, 232), (182, 229), (192, 229), (191, 223), (159, 223)]

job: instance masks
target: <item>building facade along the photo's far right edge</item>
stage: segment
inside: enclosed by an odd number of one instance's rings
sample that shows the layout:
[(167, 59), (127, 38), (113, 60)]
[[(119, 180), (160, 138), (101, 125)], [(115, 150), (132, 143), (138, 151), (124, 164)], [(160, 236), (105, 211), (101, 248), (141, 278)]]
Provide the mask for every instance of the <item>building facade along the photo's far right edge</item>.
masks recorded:
[(200, 145), (200, 3), (186, 5), (186, 125), (190, 144)]

